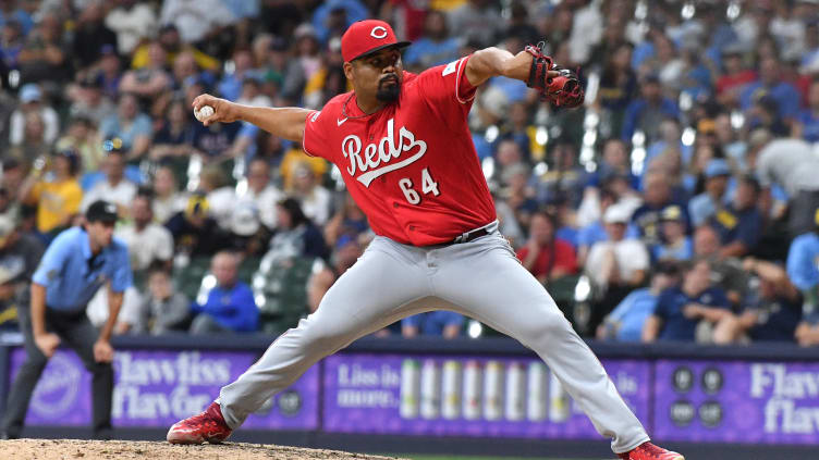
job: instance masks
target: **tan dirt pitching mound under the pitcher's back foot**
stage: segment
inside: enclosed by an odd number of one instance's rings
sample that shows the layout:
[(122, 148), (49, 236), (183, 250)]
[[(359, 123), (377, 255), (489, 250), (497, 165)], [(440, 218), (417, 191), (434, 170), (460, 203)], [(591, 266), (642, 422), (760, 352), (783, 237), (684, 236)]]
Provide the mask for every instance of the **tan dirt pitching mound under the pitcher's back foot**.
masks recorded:
[(222, 445), (174, 446), (160, 442), (14, 439), (0, 440), (2, 459), (37, 460), (301, 460), (356, 459), (388, 460), (391, 457), (366, 456), (338, 450), (301, 449), (265, 444), (225, 443)]

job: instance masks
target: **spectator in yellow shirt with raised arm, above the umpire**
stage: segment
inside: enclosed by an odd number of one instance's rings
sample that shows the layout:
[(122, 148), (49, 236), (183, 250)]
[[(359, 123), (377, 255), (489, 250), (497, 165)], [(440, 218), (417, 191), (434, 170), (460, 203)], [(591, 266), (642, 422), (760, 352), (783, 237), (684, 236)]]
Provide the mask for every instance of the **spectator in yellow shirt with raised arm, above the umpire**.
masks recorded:
[(37, 207), (37, 229), (53, 236), (71, 226), (80, 213), (83, 189), (80, 187), (80, 156), (74, 150), (63, 150), (52, 158), (48, 170), (37, 167), (23, 183), (23, 201)]

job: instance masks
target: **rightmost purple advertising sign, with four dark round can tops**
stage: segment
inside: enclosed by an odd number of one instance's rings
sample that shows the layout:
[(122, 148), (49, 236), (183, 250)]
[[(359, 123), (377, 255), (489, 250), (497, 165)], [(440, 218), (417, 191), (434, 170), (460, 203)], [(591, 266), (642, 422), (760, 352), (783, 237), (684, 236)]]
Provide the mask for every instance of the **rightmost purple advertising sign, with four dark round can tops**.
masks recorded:
[(659, 360), (655, 436), (819, 444), (819, 363)]

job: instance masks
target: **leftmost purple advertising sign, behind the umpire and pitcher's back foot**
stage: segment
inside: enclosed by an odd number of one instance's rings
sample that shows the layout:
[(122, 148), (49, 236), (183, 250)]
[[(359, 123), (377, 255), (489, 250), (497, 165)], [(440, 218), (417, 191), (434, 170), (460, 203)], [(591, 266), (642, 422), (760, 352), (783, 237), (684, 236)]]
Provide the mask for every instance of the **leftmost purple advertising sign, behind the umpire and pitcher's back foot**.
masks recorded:
[[(25, 350), (11, 353), (16, 376)], [(114, 426), (170, 426), (205, 409), (219, 389), (256, 360), (241, 351), (117, 350), (114, 356)], [(250, 415), (249, 428), (318, 427), (319, 370), (310, 368), (293, 386)], [(26, 417), (29, 425), (88, 425), (91, 375), (72, 351), (59, 350), (35, 387)]]

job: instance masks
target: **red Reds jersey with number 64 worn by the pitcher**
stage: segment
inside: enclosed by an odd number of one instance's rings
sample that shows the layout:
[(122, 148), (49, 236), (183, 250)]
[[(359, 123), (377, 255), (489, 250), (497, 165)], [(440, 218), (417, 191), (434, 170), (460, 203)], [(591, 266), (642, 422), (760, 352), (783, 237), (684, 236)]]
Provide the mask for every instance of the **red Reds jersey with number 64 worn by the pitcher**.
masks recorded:
[(354, 92), (307, 115), (305, 152), (341, 170), (377, 235), (429, 246), (496, 220), (466, 123), (476, 90), (468, 59), (404, 72), (398, 101), (370, 115)]

